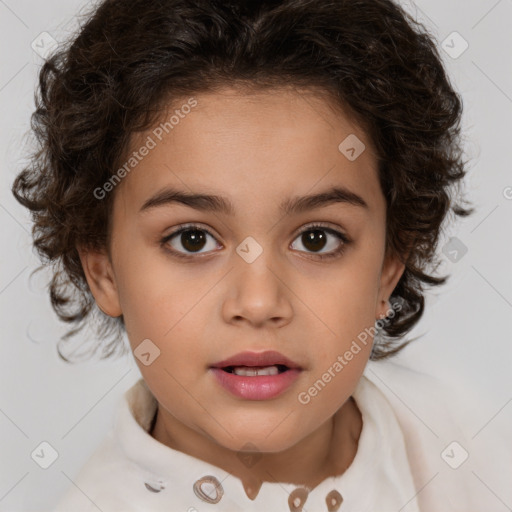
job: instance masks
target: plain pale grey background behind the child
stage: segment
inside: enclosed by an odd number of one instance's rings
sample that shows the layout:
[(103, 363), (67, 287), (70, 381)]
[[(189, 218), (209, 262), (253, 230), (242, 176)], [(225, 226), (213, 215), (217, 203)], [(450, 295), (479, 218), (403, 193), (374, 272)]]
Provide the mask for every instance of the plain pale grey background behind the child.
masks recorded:
[[(452, 82), (463, 96), (466, 153), (472, 159), (465, 190), (477, 212), (443, 234), (439, 271), (452, 277), (427, 294), (424, 318), (411, 333), (423, 337), (397, 361), (465, 392), (476, 404), (466, 430), (475, 443), (484, 442), (499, 431), (508, 432), (512, 418), (512, 0), (421, 0), (403, 5), (435, 35)], [(76, 0), (0, 0), (2, 511), (50, 509), (73, 485), (110, 427), (117, 402), (140, 375), (132, 356), (74, 366), (58, 358), (55, 341), (65, 329), (50, 308), (44, 275), (29, 281), (38, 266), (29, 216), (10, 193), (23, 165), (42, 63), (33, 41), (37, 44), (42, 32), (57, 41), (67, 38), (76, 27), (74, 14), (84, 6), (89, 4)], [(456, 58), (443, 49), (445, 40), (452, 52), (462, 48), (451, 36), (454, 31), (469, 44)], [(452, 237), (458, 240), (450, 241)], [(454, 248), (457, 259), (450, 254)], [(59, 455), (48, 469), (31, 458), (42, 441)], [(502, 484), (490, 477), (479, 480), (475, 485), (489, 490), (490, 508), (512, 510), (512, 503), (501, 499), (506, 491)]]

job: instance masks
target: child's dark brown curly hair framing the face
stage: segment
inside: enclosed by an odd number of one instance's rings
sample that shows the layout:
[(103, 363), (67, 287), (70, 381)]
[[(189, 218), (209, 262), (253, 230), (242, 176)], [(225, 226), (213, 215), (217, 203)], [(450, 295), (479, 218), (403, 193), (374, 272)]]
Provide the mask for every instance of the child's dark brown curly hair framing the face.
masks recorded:
[(60, 341), (91, 323), (102, 358), (126, 353), (123, 317), (98, 310), (77, 252), (109, 247), (114, 193), (93, 191), (170, 102), (228, 84), (313, 88), (364, 128), (387, 203), (386, 252), (405, 264), (390, 298), (402, 307), (371, 358), (412, 341), (398, 344), (423, 314), (424, 285), (447, 279), (434, 275), (443, 220), (473, 212), (452, 190), (467, 172), (462, 100), (423, 25), (391, 0), (104, 0), (85, 16), (41, 68), (37, 149), (12, 186), (53, 265), (52, 307), (72, 325)]

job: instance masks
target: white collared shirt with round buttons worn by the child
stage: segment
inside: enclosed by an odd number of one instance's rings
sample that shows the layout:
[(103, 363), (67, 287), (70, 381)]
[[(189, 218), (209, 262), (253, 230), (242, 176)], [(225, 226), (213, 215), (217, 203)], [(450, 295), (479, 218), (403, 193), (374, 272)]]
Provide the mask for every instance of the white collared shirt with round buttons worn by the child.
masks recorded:
[(370, 361), (352, 396), (363, 426), (350, 467), (311, 490), (263, 482), (252, 501), (237, 477), (148, 434), (157, 402), (140, 379), (54, 512), (505, 510), (475, 485), (475, 466), (464, 460), (470, 443), (434, 378)]

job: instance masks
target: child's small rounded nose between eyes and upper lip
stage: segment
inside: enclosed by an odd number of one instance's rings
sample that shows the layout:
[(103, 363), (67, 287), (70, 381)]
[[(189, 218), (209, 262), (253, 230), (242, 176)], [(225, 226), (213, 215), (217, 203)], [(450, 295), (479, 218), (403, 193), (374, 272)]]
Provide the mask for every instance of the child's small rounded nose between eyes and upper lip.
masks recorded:
[(290, 296), (293, 287), (289, 274), (276, 259), (267, 256), (267, 251), (252, 263), (238, 258), (229, 273), (229, 280), (222, 307), (226, 322), (282, 327), (292, 319)]

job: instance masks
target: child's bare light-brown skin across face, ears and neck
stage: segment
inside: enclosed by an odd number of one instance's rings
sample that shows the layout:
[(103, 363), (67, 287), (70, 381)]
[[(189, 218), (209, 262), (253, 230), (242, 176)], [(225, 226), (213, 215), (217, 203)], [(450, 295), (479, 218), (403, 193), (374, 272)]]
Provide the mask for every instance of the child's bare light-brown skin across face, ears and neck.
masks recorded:
[[(116, 187), (110, 255), (80, 248), (82, 265), (98, 306), (124, 316), (132, 350), (144, 339), (160, 350), (149, 366), (135, 358), (159, 402), (155, 439), (231, 472), (251, 499), (264, 481), (313, 488), (342, 474), (356, 454), (362, 419), (351, 394), (371, 339), (308, 404), (298, 394), (386, 313), (404, 270), (398, 258), (385, 257), (377, 160), (357, 124), (313, 92), (226, 87), (194, 97), (191, 113)], [(133, 136), (131, 150), (148, 134)], [(349, 134), (366, 145), (354, 161), (338, 150)], [(283, 199), (334, 185), (368, 207), (338, 202), (289, 215), (278, 209)], [(235, 214), (177, 203), (139, 212), (165, 186), (225, 196)], [(211, 233), (199, 254), (187, 251), (180, 235), (166, 246), (190, 260), (166, 252), (161, 239), (191, 222)], [(332, 253), (344, 242), (323, 231), (327, 245), (315, 252), (301, 237), (312, 222), (351, 242), (320, 260), (317, 252)], [(247, 236), (263, 249), (252, 263), (236, 252)], [(235, 397), (209, 367), (244, 350), (277, 350), (303, 370), (273, 399)], [(248, 442), (260, 457), (250, 468), (238, 456)]]

